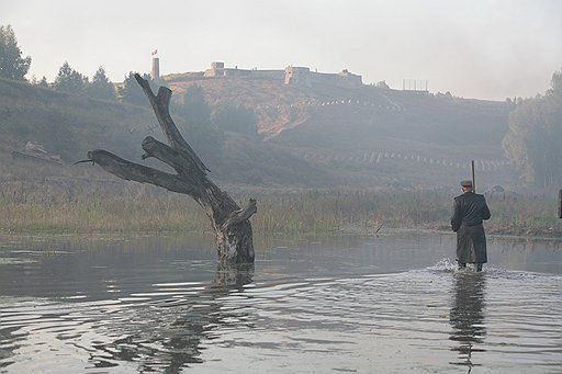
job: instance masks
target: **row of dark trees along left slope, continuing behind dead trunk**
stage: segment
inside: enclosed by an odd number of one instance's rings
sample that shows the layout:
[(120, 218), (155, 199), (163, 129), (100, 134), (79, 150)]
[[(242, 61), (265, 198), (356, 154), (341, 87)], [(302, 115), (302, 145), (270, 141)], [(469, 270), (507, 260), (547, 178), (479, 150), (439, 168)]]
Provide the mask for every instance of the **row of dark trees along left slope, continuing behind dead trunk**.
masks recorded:
[[(23, 57), (18, 45), (13, 29), (0, 26), (0, 77), (13, 80), (27, 81), (25, 76), (29, 72), (32, 58)], [(144, 73), (153, 91), (156, 91), (162, 81), (154, 80), (149, 75)], [(74, 69), (68, 61), (65, 61), (53, 82), (48, 82), (45, 76), (41, 79), (33, 77), (31, 84), (53, 89), (59, 92), (71, 94), (83, 94), (92, 99), (122, 102), (139, 106), (148, 106), (146, 97), (130, 71), (124, 81), (115, 84), (110, 81), (103, 66), (98, 68), (91, 80)], [(244, 105), (218, 105), (211, 107), (201, 87), (188, 88), (182, 98), (179, 98), (171, 106), (175, 115), (182, 116), (184, 124), (180, 127), (188, 127), (188, 131), (209, 141), (216, 140), (224, 132), (241, 133), (249, 136), (257, 136), (257, 118), (250, 109)], [(181, 129), (181, 128), (180, 128)], [(186, 129), (186, 128), (183, 128)]]

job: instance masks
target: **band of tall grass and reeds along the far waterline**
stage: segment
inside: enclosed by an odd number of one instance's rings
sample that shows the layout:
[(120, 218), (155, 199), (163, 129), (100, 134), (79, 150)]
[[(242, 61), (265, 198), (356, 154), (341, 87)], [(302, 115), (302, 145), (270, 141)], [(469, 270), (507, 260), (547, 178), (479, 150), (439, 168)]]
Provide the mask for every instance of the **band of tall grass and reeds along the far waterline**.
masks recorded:
[[(232, 192), (259, 234), (375, 233), (382, 228), (448, 231), (453, 194), (436, 191)], [(558, 201), (549, 196), (488, 196), (490, 235), (562, 238)], [(0, 183), (0, 233), (111, 234), (212, 230), (189, 196), (151, 185), (115, 181), (10, 181)]]

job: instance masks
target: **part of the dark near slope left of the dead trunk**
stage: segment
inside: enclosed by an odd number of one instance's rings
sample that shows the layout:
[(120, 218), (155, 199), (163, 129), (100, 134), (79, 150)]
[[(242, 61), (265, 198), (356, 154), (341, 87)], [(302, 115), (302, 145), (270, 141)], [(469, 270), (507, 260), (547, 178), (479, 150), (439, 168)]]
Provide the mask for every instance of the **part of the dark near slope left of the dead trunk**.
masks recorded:
[[(71, 163), (92, 148), (138, 158), (154, 114), (145, 107), (71, 95), (0, 79), (0, 152), (19, 150), (29, 140)], [(125, 141), (126, 139), (126, 141)]]

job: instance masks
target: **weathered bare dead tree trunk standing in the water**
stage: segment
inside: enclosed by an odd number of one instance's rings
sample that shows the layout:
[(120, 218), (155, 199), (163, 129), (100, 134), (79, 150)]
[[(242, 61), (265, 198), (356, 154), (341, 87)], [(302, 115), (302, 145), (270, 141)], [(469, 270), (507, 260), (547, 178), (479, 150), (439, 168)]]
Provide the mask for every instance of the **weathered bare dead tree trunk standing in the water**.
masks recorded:
[(146, 137), (142, 144), (145, 151), (142, 158), (154, 157), (173, 168), (177, 174), (124, 160), (102, 149), (89, 151), (88, 159), (119, 178), (150, 183), (191, 196), (211, 219), (218, 247), (218, 259), (229, 263), (252, 263), (255, 253), (249, 218), (257, 212), (256, 200), (250, 199), (248, 205), (240, 208), (226, 192), (221, 191), (206, 177), (210, 170), (183, 139), (170, 116), (171, 91), (160, 87), (158, 94), (155, 95), (148, 81), (137, 73), (135, 79), (148, 98), (169, 143), (166, 145), (150, 136)]

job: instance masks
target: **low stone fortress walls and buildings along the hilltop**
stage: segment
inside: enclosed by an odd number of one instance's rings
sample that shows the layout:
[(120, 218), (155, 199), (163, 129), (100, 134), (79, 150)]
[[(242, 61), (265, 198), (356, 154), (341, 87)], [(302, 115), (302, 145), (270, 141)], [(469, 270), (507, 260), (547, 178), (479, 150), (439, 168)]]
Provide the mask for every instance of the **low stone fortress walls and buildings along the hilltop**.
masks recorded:
[[(153, 70), (154, 66), (153, 64)], [(157, 72), (153, 71), (151, 76), (157, 76)], [(206, 69), (204, 72), (192, 72), (189, 76), (195, 79), (227, 77), (274, 79), (281, 80), (285, 84), (304, 87), (328, 84), (342, 88), (359, 88), (363, 84), (361, 76), (351, 73), (347, 69), (337, 73), (311, 71), (310, 68), (300, 66), (289, 66), (284, 70), (258, 70), (257, 68), (238, 69), (237, 66), (234, 68), (225, 68), (224, 63), (221, 61), (212, 63), (211, 68)]]

